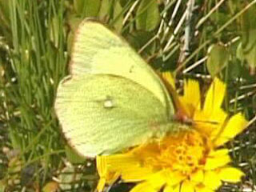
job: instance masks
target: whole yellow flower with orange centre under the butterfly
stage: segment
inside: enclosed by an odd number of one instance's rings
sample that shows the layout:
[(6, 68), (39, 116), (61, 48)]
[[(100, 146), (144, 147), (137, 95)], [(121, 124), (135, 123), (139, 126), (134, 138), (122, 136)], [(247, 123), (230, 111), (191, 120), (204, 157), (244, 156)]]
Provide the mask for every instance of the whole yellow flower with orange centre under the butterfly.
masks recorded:
[(222, 110), (225, 91), (225, 84), (215, 78), (202, 103), (198, 82), (186, 81), (178, 103), (193, 120), (192, 129), (122, 154), (98, 156), (98, 191), (118, 178), (138, 182), (130, 192), (213, 192), (222, 182), (239, 182), (242, 171), (229, 165), (229, 151), (220, 146), (247, 122), (241, 113), (229, 118)]

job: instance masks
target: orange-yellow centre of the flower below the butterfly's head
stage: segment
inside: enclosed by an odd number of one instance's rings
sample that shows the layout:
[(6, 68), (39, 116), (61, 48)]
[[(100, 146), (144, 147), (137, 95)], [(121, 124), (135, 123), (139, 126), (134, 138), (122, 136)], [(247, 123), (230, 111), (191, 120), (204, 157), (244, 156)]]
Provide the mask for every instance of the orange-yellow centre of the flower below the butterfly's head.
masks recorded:
[(190, 175), (205, 164), (210, 149), (209, 144), (206, 137), (196, 130), (169, 135), (162, 142), (154, 144), (158, 145), (158, 149), (154, 149), (154, 152), (158, 152), (147, 156), (144, 165), (153, 169), (170, 169)]

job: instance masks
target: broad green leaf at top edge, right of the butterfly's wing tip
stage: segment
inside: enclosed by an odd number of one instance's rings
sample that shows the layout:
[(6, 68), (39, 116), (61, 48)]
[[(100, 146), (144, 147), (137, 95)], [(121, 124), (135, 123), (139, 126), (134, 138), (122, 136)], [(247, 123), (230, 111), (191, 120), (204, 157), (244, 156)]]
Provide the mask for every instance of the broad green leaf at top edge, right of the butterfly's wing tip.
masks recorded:
[(158, 2), (156, 0), (142, 0), (136, 13), (138, 30), (154, 30), (159, 22)]

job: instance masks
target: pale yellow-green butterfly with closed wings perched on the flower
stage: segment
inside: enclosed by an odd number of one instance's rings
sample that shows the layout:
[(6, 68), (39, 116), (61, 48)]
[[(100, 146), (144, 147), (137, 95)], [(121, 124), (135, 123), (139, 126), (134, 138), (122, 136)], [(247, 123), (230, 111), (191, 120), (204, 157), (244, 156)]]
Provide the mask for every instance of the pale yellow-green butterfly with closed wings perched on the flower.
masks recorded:
[(74, 37), (70, 75), (54, 104), (78, 154), (94, 158), (160, 139), (183, 126), (162, 78), (120, 36), (86, 19)]

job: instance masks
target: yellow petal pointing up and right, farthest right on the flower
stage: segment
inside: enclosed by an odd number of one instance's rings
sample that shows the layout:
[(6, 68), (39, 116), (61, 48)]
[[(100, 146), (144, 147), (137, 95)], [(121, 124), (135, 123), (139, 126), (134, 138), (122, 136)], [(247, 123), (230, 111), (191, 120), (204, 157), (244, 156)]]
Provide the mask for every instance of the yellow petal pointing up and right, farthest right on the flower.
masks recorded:
[(246, 128), (246, 124), (247, 121), (241, 113), (232, 116), (227, 122), (226, 127), (222, 130), (222, 133), (215, 140), (215, 146), (222, 146), (225, 142), (234, 138)]

